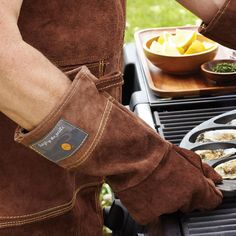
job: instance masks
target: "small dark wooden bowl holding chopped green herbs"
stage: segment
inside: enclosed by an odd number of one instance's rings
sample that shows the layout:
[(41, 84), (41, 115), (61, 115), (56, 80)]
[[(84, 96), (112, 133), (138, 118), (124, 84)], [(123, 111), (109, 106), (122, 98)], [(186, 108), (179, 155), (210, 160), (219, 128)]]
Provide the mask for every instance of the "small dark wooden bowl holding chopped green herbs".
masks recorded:
[(234, 63), (234, 59), (213, 60), (201, 65), (203, 76), (210, 82), (216, 84), (232, 84), (236, 82), (236, 72), (220, 73), (212, 71), (218, 63)]

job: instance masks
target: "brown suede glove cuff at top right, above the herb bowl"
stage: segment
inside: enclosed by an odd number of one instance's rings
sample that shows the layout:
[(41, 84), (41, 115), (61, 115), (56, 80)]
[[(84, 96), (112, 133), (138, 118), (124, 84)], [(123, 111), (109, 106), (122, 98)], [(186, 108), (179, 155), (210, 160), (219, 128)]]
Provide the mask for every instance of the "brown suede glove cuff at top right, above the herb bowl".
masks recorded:
[(209, 24), (202, 23), (201, 34), (229, 48), (236, 49), (236, 1), (226, 0)]

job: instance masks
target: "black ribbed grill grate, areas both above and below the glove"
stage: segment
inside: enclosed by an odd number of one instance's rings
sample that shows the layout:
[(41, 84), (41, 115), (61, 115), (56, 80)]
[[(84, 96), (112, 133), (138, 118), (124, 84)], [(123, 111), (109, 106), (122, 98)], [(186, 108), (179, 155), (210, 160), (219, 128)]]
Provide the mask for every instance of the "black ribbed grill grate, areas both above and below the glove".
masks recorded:
[[(183, 137), (202, 122), (236, 109), (236, 100), (203, 102), (198, 104), (171, 104), (152, 106), (155, 127), (166, 140), (179, 145)], [(180, 219), (184, 236), (236, 236), (235, 198), (224, 199), (223, 204), (209, 212), (185, 214)]]

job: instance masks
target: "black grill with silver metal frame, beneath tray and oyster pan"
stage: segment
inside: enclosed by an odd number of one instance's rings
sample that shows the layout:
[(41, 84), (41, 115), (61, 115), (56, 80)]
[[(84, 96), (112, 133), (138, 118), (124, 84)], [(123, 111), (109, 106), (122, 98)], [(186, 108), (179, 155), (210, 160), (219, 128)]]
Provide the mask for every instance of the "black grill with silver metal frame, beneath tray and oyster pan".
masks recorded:
[[(176, 145), (195, 126), (214, 116), (236, 109), (234, 94), (160, 99), (153, 95), (145, 82), (134, 44), (126, 45), (124, 56), (126, 65), (124, 79), (129, 81), (126, 83), (129, 88), (124, 88), (125, 105), (129, 100), (130, 110), (155, 128), (163, 138)], [(121, 214), (122, 219), (127, 219), (127, 210), (123, 209), (122, 212), (126, 212)], [(117, 217), (117, 214), (114, 215)], [(111, 223), (115, 222), (116, 220)], [(118, 231), (113, 231), (113, 235), (147, 235), (145, 230), (140, 229), (134, 221), (129, 222), (132, 222), (129, 223), (129, 227), (128, 224), (119, 226)], [(133, 231), (130, 231), (131, 228)], [(236, 198), (224, 199), (218, 209), (209, 212), (163, 216), (162, 228), (162, 236), (236, 236)]]

